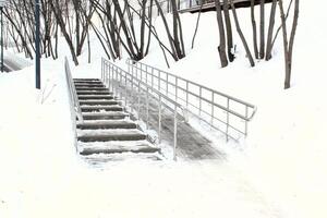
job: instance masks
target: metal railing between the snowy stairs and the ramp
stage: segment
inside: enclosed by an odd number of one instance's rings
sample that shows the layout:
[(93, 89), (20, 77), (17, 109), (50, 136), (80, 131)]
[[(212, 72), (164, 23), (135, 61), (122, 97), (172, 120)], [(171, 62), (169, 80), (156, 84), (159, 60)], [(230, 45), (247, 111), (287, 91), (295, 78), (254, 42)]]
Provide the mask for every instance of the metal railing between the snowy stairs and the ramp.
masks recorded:
[[(150, 85), (138, 80), (133, 74), (117, 66), (110, 61), (102, 58), (101, 61), (101, 80), (108, 87), (109, 92), (114, 93), (121, 98), (126, 108), (137, 112), (138, 119), (144, 116), (146, 129), (149, 129), (149, 116), (153, 106), (152, 102), (156, 102), (158, 111), (155, 116), (158, 118), (158, 142), (161, 143), (161, 124), (162, 124), (162, 112), (164, 109), (168, 109), (173, 113), (173, 159), (177, 159), (177, 146), (178, 146), (178, 122), (183, 119), (182, 114), (183, 107), (174, 100), (168, 98), (165, 94), (155, 90)], [(154, 105), (154, 104), (153, 104)]]

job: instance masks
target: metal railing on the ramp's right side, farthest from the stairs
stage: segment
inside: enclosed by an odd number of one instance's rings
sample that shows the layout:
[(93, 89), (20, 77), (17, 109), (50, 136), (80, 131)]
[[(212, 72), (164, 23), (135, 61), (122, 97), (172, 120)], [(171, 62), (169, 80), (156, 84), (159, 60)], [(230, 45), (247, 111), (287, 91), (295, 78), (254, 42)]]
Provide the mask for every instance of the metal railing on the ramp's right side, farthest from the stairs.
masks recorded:
[(254, 105), (142, 62), (128, 59), (126, 64), (134, 78), (179, 104), (184, 113), (223, 133), (227, 141), (247, 135), (247, 123), (256, 112)]

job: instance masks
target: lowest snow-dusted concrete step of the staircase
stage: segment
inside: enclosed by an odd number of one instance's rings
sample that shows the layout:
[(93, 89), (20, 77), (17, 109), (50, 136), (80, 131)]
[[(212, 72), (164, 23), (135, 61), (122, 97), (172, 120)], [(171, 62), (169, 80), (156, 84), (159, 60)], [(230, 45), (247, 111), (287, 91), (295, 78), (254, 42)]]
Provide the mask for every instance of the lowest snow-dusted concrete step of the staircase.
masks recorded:
[(84, 143), (89, 144), (88, 146), (83, 146), (80, 154), (81, 155), (94, 155), (94, 154), (121, 154), (121, 153), (157, 153), (160, 149), (157, 147), (153, 147), (146, 141), (136, 141), (133, 145), (131, 142), (109, 142), (109, 143), (98, 143), (94, 145), (93, 143)]

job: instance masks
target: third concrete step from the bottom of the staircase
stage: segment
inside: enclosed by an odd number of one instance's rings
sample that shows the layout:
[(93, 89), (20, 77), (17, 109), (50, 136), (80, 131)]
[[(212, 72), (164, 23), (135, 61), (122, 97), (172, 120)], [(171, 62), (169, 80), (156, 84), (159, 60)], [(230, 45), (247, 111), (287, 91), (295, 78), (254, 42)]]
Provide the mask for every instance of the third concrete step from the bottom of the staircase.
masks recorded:
[(137, 125), (129, 120), (87, 120), (77, 122), (76, 128), (81, 130), (136, 129)]

